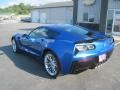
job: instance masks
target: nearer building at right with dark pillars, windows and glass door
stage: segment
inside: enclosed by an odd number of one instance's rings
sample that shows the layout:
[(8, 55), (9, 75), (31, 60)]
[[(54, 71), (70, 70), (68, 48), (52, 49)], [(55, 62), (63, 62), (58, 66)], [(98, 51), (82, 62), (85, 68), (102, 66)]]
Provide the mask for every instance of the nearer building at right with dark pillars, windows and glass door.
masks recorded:
[(120, 0), (73, 0), (73, 23), (120, 35)]

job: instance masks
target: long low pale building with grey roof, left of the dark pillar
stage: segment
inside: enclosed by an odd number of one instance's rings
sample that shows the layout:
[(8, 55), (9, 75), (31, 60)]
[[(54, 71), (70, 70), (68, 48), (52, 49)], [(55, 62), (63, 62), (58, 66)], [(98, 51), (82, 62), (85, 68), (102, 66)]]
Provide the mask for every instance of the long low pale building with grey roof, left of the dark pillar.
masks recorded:
[(73, 2), (56, 2), (31, 9), (32, 22), (39, 23), (72, 23)]

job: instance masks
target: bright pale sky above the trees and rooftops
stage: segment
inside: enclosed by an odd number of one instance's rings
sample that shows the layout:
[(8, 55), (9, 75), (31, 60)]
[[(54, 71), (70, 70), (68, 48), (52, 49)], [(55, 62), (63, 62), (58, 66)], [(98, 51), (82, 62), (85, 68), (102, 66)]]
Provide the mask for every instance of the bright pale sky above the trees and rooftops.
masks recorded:
[(51, 2), (62, 2), (62, 1), (70, 1), (70, 0), (0, 0), (0, 7), (4, 8), (13, 4), (25, 3), (30, 5), (40, 5)]

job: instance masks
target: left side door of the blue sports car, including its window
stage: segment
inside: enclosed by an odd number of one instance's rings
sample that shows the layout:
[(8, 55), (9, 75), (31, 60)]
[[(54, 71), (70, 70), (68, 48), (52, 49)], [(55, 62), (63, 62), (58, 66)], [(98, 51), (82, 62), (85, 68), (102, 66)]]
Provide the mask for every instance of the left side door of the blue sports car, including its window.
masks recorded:
[(42, 43), (47, 37), (46, 28), (37, 28), (30, 32), (27, 36), (21, 38), (21, 44), (26, 52), (39, 56), (42, 51)]

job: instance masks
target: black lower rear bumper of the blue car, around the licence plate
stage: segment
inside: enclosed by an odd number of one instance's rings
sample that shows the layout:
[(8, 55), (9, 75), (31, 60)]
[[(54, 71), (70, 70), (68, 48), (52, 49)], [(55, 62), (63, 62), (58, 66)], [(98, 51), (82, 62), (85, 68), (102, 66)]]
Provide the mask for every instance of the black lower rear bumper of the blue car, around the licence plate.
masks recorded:
[(103, 62), (99, 62), (99, 56), (92, 57), (92, 58), (85, 58), (85, 59), (80, 60), (80, 61), (74, 61), (72, 63), (72, 66), (71, 66), (71, 73), (74, 73), (74, 72), (79, 71), (79, 70), (84, 70), (84, 69), (96, 67), (100, 64), (105, 63), (112, 55), (112, 52), (113, 52), (113, 50), (106, 53), (107, 58)]

